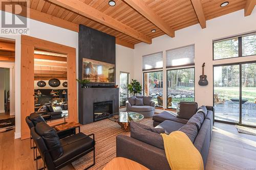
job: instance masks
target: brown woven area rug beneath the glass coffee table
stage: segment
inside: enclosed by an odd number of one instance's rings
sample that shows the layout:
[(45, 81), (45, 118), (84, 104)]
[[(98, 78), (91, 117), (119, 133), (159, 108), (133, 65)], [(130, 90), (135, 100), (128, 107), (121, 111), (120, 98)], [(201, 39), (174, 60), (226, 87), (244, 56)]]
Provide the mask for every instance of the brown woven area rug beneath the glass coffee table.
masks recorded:
[[(153, 120), (144, 118), (139, 121), (139, 123), (152, 126)], [(85, 134), (95, 134), (95, 165), (90, 168), (92, 169), (102, 169), (106, 163), (111, 161), (116, 157), (116, 136), (118, 134), (123, 134), (130, 136), (130, 132), (125, 132), (121, 127), (112, 122), (109, 119), (104, 119), (92, 124), (81, 126), (81, 132)], [(76, 170), (81, 170), (93, 163), (93, 154), (90, 153), (80, 159), (72, 162), (73, 167)]]

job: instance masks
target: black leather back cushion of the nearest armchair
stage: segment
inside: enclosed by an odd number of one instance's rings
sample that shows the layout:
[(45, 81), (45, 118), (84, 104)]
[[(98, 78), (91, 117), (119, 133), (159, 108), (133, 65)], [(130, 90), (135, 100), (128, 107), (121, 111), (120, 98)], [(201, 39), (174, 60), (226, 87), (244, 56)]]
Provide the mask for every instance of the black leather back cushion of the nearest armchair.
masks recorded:
[(50, 154), (52, 159), (55, 160), (63, 154), (63, 149), (56, 131), (44, 122), (37, 123), (35, 131), (39, 136), (44, 139), (48, 150), (56, 148), (51, 151)]

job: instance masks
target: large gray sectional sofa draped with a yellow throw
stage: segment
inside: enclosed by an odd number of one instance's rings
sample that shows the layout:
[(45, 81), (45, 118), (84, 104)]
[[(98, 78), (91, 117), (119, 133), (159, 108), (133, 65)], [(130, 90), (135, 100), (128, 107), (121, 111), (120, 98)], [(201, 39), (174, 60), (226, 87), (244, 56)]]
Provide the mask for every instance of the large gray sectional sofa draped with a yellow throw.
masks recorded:
[(186, 104), (183, 107), (186, 108), (181, 108), (181, 110), (186, 112), (189, 110), (192, 117), (180, 118), (179, 114), (177, 117), (164, 111), (153, 116), (155, 128), (131, 122), (131, 137), (125, 135), (116, 137), (116, 156), (134, 160), (152, 170), (170, 169), (160, 133), (169, 134), (180, 130), (187, 134), (194, 143), (202, 155), (205, 166), (214, 125), (214, 108), (202, 106), (191, 114), (195, 105), (192, 109)]

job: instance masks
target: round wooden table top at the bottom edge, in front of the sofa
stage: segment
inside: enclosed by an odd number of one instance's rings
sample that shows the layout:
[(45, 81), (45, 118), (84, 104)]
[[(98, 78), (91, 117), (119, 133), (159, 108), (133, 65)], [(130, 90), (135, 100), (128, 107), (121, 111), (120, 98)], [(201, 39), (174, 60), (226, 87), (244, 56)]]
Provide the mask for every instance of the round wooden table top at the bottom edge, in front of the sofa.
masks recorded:
[(112, 159), (109, 163), (105, 165), (102, 170), (115, 170), (115, 169), (122, 169), (122, 170), (150, 170), (145, 166), (122, 157), (117, 157)]

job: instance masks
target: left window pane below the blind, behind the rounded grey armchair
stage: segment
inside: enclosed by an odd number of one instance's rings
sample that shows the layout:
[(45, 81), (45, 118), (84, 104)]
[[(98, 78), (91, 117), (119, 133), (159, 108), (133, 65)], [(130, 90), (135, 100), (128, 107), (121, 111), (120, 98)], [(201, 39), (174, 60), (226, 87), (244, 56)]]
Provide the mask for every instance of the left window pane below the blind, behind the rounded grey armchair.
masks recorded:
[(144, 95), (152, 96), (156, 107), (163, 107), (163, 71), (143, 73)]

